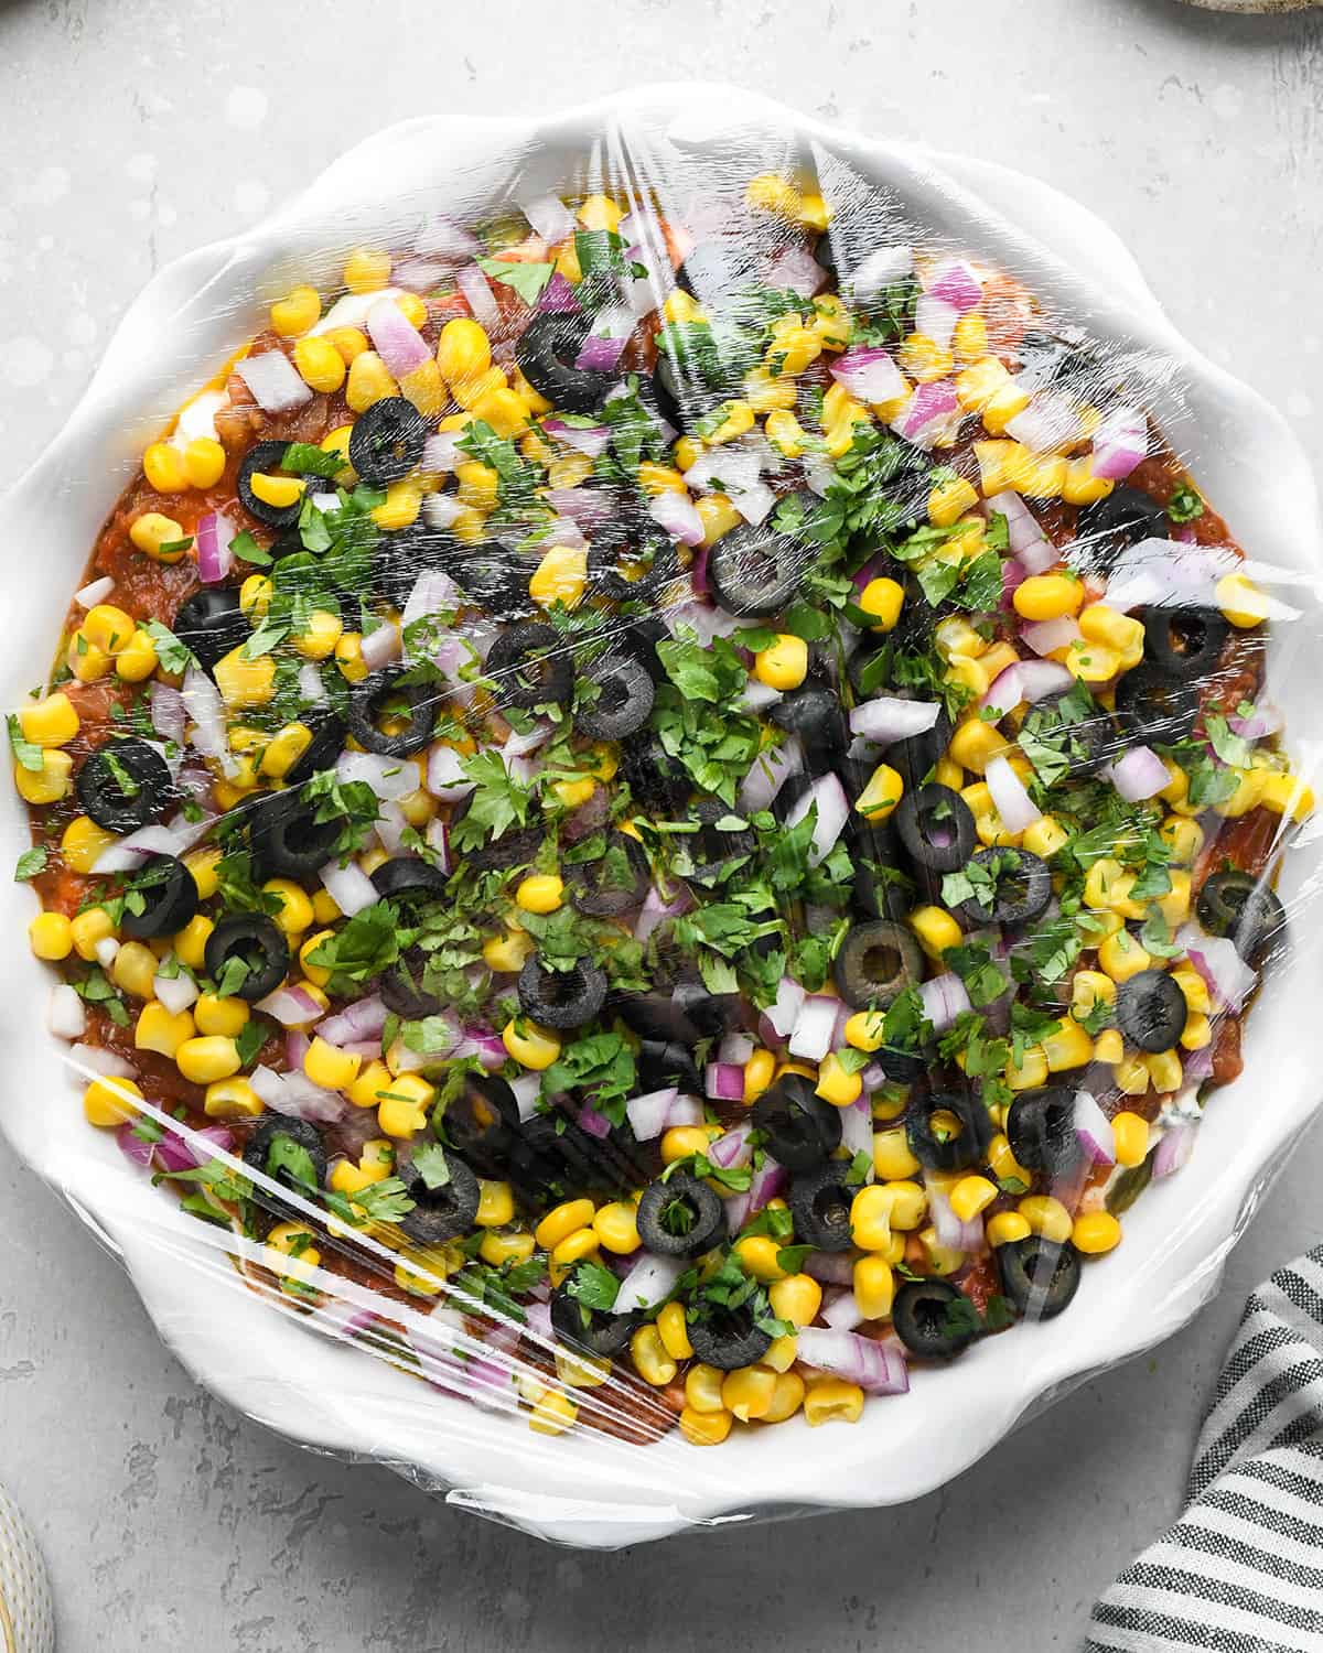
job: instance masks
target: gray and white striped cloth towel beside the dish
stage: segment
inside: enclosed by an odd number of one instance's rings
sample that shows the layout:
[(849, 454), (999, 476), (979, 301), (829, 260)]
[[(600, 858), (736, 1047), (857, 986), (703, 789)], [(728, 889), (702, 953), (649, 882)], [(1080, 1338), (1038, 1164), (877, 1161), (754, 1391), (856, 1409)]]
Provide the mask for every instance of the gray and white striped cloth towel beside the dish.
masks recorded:
[(1088, 1653), (1323, 1653), (1323, 1246), (1250, 1294), (1186, 1512), (1093, 1608)]

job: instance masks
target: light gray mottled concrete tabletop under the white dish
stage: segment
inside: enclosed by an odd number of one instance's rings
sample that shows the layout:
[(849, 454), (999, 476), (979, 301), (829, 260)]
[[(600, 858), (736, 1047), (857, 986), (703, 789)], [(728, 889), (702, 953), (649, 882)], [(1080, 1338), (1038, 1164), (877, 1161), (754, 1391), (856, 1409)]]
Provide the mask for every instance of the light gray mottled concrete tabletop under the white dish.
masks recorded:
[[(1196, 342), (1306, 443), (1323, 431), (1310, 13), (0, 0), (0, 484), (64, 418), (152, 269), (251, 222), (347, 142), (435, 109), (551, 109), (680, 76), (744, 79), (1073, 190)], [(21, 545), (3, 552), (21, 567)], [(1182, 1336), (943, 1493), (594, 1557), (308, 1456), (215, 1403), (116, 1263), (0, 1152), (0, 1479), (45, 1541), (64, 1653), (1075, 1646), (1096, 1592), (1177, 1506), (1245, 1291), (1318, 1240), (1320, 1175), (1315, 1134)]]

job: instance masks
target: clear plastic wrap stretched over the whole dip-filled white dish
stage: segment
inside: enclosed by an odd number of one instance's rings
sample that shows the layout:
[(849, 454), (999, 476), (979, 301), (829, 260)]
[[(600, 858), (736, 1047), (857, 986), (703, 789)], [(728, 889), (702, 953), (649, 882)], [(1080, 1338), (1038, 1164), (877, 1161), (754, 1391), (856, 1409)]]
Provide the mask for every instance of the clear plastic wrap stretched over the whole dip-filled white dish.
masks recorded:
[(1029, 180), (413, 122), (8, 519), (0, 1117), (296, 1440), (584, 1544), (898, 1503), (1313, 1108), (1313, 484)]

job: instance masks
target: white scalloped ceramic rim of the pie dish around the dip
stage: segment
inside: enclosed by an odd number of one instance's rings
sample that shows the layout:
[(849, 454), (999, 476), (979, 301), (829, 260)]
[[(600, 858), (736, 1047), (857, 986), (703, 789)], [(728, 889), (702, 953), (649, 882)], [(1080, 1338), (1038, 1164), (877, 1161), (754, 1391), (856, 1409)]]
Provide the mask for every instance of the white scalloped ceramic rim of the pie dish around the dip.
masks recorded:
[[(1096, 337), (1169, 360), (1176, 372), (1156, 407), (1159, 423), (1191, 455), (1232, 531), (1255, 557), (1318, 572), (1323, 522), (1295, 438), (1255, 393), (1181, 339), (1134, 261), (1083, 208), (987, 162), (840, 132), (734, 88), (648, 88), (542, 121), (447, 117), (392, 127), (258, 228), (162, 271), (126, 314), (69, 423), (5, 499), (10, 544), (43, 570), (7, 592), (8, 635), (21, 641), (0, 665), (5, 706), (43, 679), (68, 593), (142, 445), (261, 324), (265, 301), (331, 243), (370, 238), (427, 207), (476, 208), (513, 175), (521, 188), (552, 188), (595, 141), (602, 147), (604, 131), (622, 129), (647, 131), (650, 142), (670, 132), (685, 145), (734, 144), (759, 165), (795, 150), (832, 152), (890, 185), (913, 217), (1022, 274)], [(380, 180), (389, 180), (385, 207), (374, 205)], [(1283, 498), (1290, 512), (1280, 509)], [(1275, 643), (1272, 681), (1298, 767), (1308, 772), (1321, 731), (1302, 640), (1288, 631)], [(3, 853), (15, 858), (26, 822), (3, 790)], [(1288, 863), (1288, 906), (1313, 861), (1306, 846)], [(10, 886), (5, 899), (18, 937), (31, 894)], [(111, 1136), (86, 1126), (61, 1048), (41, 1031), (50, 975), (17, 944), (3, 1002), (0, 1129), (122, 1256), (189, 1370), (303, 1445), (387, 1463), (455, 1503), (602, 1547), (743, 1514), (905, 1503), (967, 1468), (1087, 1375), (1174, 1332), (1216, 1289), (1227, 1250), (1315, 1108), (1313, 1046), (1298, 1035), (1316, 1015), (1320, 985), (1308, 921), (1305, 907), (1295, 964), (1257, 1003), (1245, 1076), (1217, 1093), (1192, 1164), (1139, 1200), (1123, 1246), (1087, 1271), (1067, 1317), (1022, 1326), (946, 1370), (916, 1374), (908, 1397), (870, 1403), (853, 1428), (810, 1433), (792, 1423), (733, 1438), (714, 1453), (678, 1438), (638, 1450), (587, 1433), (542, 1441), (526, 1418), (437, 1395), (273, 1312), (240, 1284), (215, 1233), (132, 1172)]]

